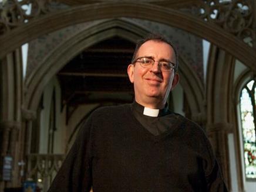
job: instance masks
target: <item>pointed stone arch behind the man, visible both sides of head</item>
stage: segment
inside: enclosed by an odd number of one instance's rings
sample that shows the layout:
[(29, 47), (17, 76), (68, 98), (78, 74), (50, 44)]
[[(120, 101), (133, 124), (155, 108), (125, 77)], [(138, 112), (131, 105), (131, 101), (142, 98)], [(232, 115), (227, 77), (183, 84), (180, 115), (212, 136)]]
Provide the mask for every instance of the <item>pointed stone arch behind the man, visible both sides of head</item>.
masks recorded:
[[(75, 57), (86, 47), (113, 36), (120, 36), (132, 42), (136, 42), (139, 37), (148, 32), (137, 25), (129, 22), (114, 19), (100, 23), (92, 28), (80, 32), (75, 37), (67, 40), (59, 46), (50, 56), (41, 63), (40, 67), (34, 71), (25, 82), (26, 90), (26, 108), (36, 111), (38, 107), (43, 88), (50, 78), (56, 74), (60, 68), (65, 66), (66, 62)], [(203, 85), (194, 73), (193, 69), (180, 56), (180, 74), (181, 86), (188, 95), (188, 103), (193, 109), (193, 114), (200, 114), (204, 111), (200, 101), (204, 100)]]

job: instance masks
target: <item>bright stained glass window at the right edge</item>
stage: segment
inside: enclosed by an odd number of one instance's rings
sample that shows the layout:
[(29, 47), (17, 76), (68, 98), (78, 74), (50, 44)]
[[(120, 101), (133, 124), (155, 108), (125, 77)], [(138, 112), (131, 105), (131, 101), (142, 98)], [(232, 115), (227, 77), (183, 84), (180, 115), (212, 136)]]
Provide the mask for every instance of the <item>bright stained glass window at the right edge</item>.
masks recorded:
[(242, 137), (244, 142), (244, 163), (246, 178), (256, 179), (256, 81), (249, 81), (242, 88), (240, 95), (240, 110)]

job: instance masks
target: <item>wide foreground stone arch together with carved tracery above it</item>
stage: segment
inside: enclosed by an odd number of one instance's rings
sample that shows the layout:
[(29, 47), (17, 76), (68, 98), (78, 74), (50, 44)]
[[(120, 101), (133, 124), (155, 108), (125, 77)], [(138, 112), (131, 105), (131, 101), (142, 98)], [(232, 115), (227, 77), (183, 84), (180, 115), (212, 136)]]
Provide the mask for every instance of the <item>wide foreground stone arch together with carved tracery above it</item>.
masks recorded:
[[(206, 37), (210, 42), (233, 53), (253, 71), (256, 70), (252, 0), (183, 0), (180, 4), (175, 1), (90, 1), (86, 5), (80, 3), (79, 6), (60, 2), (63, 0), (3, 1), (0, 4), (0, 57), (39, 35), (69, 25), (95, 19), (128, 17), (165, 23)], [(25, 8), (28, 5), (33, 7), (29, 14)]]

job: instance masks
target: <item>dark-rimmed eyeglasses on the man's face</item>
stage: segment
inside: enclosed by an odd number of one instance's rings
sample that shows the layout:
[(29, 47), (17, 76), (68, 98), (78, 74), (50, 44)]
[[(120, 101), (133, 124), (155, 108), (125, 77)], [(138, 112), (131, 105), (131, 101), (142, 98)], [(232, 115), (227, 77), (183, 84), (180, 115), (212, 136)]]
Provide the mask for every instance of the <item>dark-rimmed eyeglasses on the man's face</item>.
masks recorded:
[[(156, 61), (151, 57), (138, 57), (133, 63), (137, 62), (144, 68), (151, 68)], [(162, 60), (157, 62), (161, 71), (170, 72), (173, 69), (175, 70), (175, 64), (171, 61)]]

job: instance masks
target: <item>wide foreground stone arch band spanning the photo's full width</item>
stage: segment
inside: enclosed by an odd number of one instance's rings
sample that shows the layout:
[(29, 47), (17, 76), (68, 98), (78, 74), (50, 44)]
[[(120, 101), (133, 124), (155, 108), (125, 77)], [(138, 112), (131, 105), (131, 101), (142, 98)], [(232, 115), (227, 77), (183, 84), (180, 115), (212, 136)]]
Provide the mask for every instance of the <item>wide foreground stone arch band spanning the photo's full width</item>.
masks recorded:
[(0, 37), (0, 44), (2, 45), (0, 48), (0, 58), (16, 47), (21, 46), (21, 44), (29, 42), (45, 33), (53, 32), (76, 23), (119, 17), (147, 19), (187, 30), (233, 54), (246, 66), (256, 71), (255, 50), (242, 41), (237, 40), (237, 37), (218, 28), (213, 23), (206, 23), (204, 20), (187, 15), (186, 13), (138, 2), (107, 2), (76, 6), (49, 13), (38, 19), (32, 19), (29, 23), (21, 25)]

